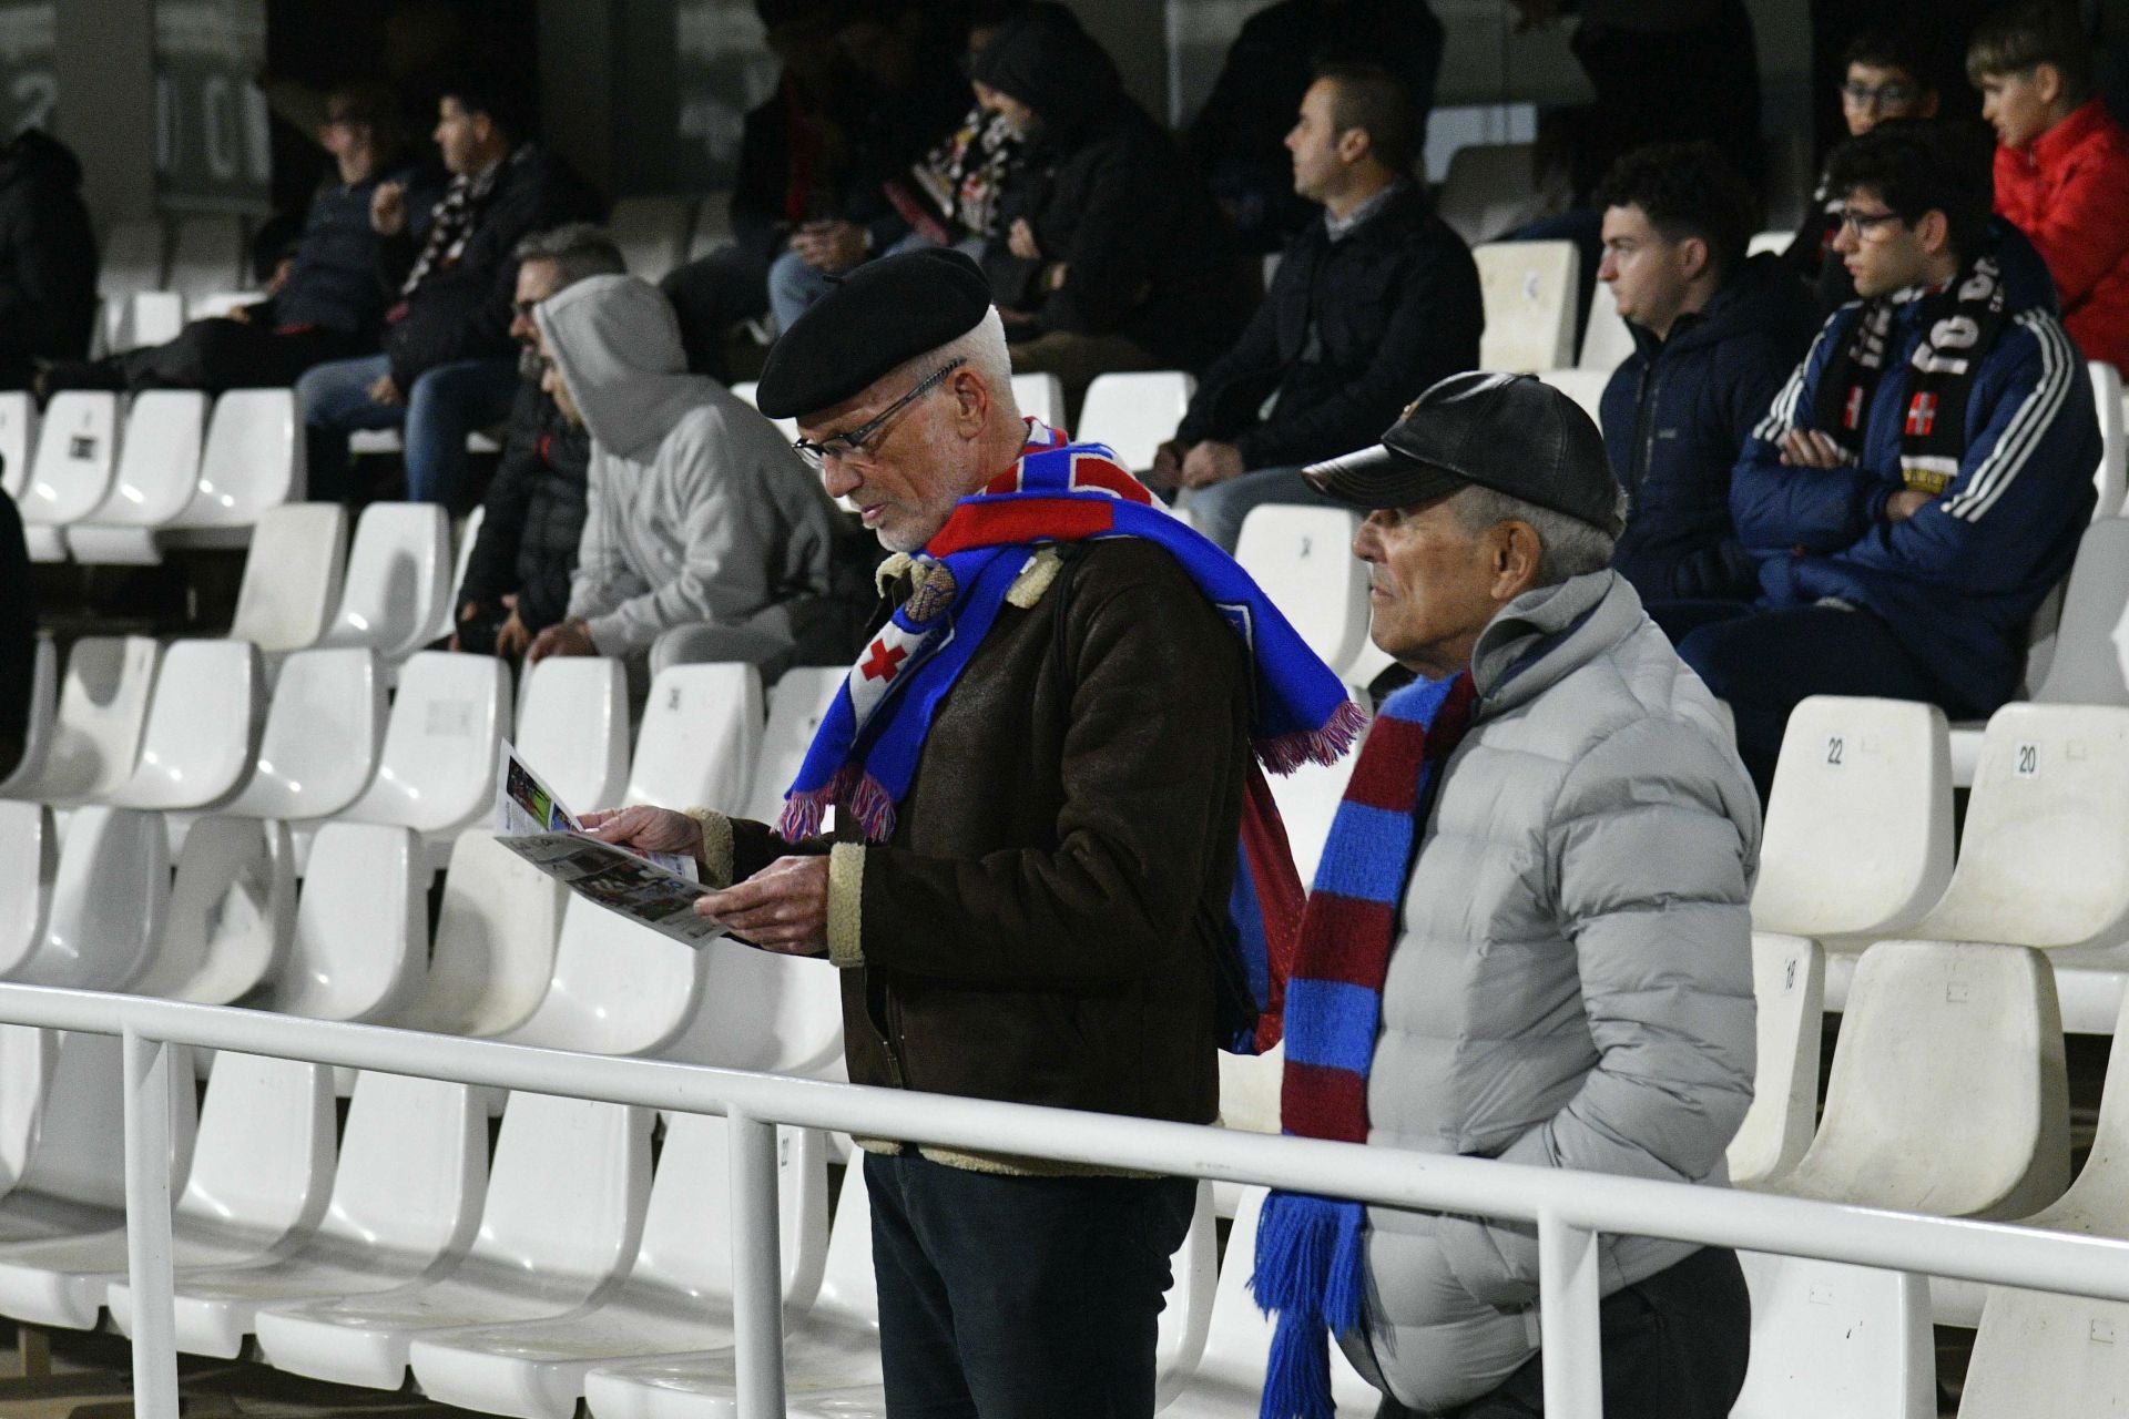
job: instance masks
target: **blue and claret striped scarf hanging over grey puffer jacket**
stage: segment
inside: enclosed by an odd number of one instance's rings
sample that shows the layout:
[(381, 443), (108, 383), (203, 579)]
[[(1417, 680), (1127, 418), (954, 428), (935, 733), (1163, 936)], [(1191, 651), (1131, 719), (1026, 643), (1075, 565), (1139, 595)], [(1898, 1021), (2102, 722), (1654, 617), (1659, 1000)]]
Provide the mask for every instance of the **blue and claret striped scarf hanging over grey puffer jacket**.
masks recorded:
[[(1367, 1076), (1382, 983), (1441, 766), (1471, 723), (1471, 672), (1416, 681), (1384, 700), (1301, 917), (1286, 983), (1282, 1130), (1367, 1142)], [(1260, 1419), (1333, 1419), (1331, 1336), (1360, 1328), (1367, 1208), (1275, 1191), (1256, 1225), (1256, 1304), (1280, 1313)]]

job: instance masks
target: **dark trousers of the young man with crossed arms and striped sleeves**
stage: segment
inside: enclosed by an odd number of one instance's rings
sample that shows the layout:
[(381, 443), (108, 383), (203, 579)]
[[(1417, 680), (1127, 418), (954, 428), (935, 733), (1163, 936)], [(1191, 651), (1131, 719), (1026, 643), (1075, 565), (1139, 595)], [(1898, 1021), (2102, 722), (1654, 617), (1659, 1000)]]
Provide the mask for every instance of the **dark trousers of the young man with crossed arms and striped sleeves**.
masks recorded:
[(1869, 611), (1737, 602), (1658, 602), (1648, 608), (1718, 700), (1737, 717), (1737, 755), (1761, 800), (1773, 785), (1788, 711), (1810, 696), (1927, 700), (1954, 719), (1984, 715), (1940, 681), (1893, 628)]

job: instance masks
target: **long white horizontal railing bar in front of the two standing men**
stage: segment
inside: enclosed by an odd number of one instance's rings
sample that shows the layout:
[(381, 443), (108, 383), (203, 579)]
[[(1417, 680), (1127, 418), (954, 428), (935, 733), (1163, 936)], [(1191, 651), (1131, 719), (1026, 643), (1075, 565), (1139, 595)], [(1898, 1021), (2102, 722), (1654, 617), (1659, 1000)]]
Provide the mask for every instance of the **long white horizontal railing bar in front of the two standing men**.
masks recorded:
[(0, 1023), (89, 1034), (132, 1030), (145, 1040), (170, 1045), (677, 1113), (741, 1111), (766, 1123), (1269, 1185), (1375, 1206), (1475, 1213), (1524, 1223), (1548, 1213), (1590, 1232), (1773, 1251), (2129, 1302), (2129, 1242), (2010, 1223), (752, 1074), (705, 1064), (585, 1055), (145, 996), (0, 985)]

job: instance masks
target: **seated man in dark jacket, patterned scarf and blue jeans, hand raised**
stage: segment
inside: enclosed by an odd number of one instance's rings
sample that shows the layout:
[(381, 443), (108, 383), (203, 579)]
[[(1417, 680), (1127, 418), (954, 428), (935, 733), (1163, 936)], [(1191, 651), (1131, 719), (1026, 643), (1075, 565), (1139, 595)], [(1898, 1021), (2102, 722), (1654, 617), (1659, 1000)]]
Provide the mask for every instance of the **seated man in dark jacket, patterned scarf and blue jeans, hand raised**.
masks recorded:
[(311, 494), (345, 498), (347, 434), (402, 428), (407, 498), (464, 508), (466, 436), (502, 423), (517, 396), (511, 298), (517, 243), (564, 221), (592, 219), (598, 198), (524, 136), (519, 77), (466, 77), (439, 102), (436, 147), (451, 187), (419, 251), (407, 191), (377, 187), (370, 223), (392, 291), (383, 353), (334, 360), (296, 381), (311, 434)]

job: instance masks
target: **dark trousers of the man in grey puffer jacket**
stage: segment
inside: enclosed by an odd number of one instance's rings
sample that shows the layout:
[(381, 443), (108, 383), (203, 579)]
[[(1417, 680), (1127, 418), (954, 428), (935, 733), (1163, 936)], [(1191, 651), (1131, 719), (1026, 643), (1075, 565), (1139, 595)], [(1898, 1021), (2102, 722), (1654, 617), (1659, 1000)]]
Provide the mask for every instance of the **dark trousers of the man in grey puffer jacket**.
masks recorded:
[[(1597, 1306), (1605, 1419), (1724, 1419), (1752, 1353), (1752, 1298), (1737, 1253), (1703, 1247)], [(1546, 1357), (1441, 1419), (1531, 1419), (1546, 1413)], [(1420, 1410), (1386, 1398), (1375, 1419)]]

